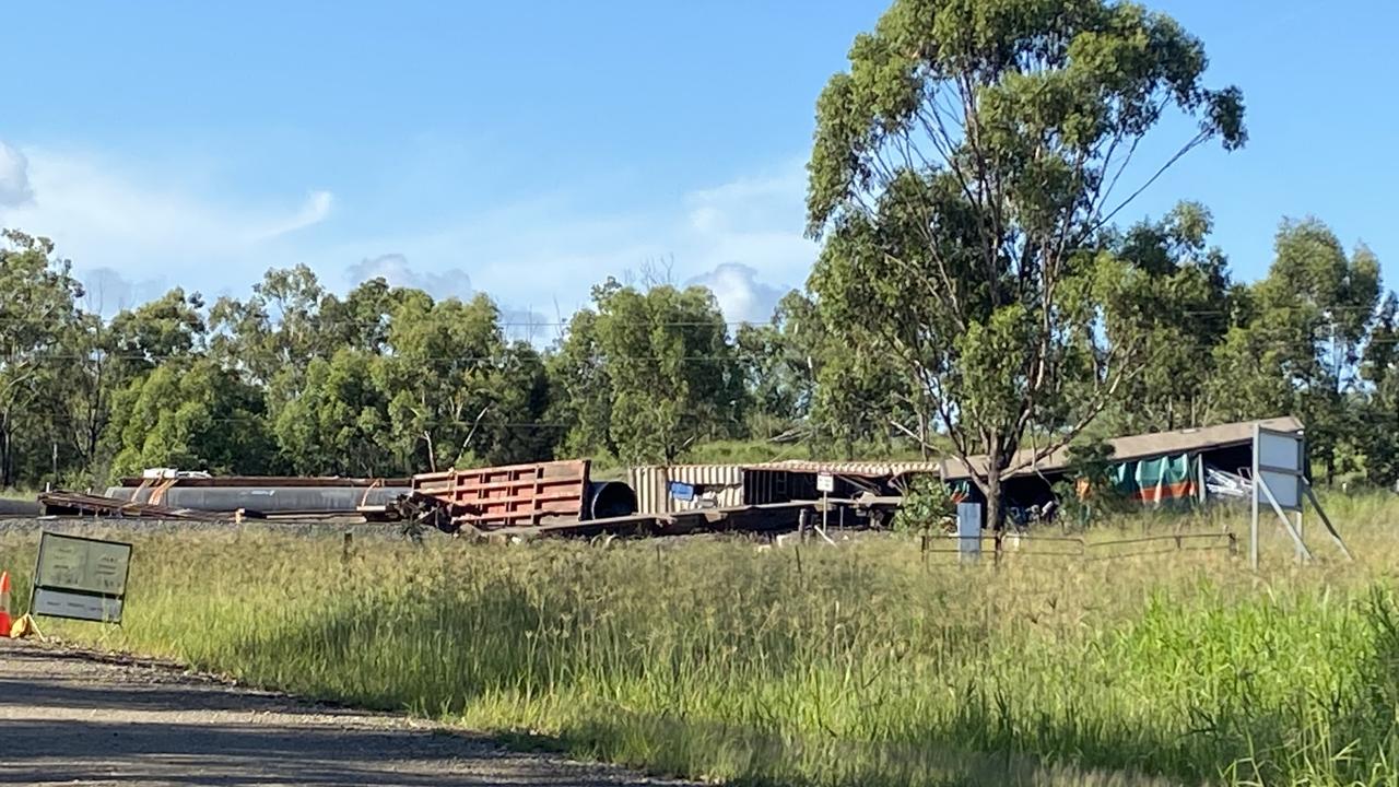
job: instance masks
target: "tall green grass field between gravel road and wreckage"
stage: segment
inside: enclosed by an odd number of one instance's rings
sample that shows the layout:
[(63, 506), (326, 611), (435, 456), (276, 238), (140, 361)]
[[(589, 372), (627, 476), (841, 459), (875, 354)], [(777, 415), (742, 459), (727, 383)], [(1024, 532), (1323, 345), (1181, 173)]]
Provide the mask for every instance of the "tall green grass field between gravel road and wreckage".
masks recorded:
[[(1298, 567), (1272, 535), (1258, 574), (1227, 550), (1048, 555), (1065, 542), (958, 567), (886, 536), (361, 538), (346, 562), (339, 535), (136, 535), (125, 627), (42, 625), (740, 784), (1395, 784), (1399, 500), (1329, 507), (1356, 563), (1312, 534)], [(1179, 525), (1244, 531), (1136, 517), (1088, 538)], [(0, 556), (28, 567), (36, 541)]]

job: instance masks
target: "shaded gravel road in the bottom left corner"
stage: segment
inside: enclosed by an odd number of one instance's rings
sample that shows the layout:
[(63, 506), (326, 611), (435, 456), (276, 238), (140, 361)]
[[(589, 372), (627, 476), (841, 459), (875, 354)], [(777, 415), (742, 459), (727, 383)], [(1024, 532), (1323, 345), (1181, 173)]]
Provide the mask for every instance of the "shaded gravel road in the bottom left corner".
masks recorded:
[(0, 640), (0, 784), (681, 784), (176, 665)]

